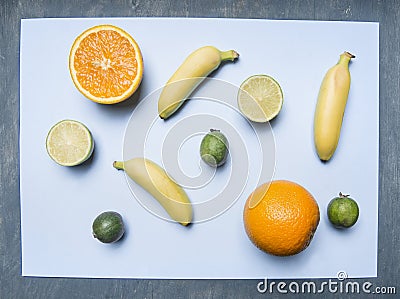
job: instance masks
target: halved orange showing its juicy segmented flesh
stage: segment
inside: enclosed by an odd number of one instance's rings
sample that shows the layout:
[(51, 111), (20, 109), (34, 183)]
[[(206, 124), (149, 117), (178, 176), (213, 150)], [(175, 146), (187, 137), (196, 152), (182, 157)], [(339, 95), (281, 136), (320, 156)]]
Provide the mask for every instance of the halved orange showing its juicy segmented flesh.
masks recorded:
[(97, 103), (115, 104), (138, 89), (143, 57), (129, 33), (113, 25), (98, 25), (75, 39), (69, 71), (84, 96)]

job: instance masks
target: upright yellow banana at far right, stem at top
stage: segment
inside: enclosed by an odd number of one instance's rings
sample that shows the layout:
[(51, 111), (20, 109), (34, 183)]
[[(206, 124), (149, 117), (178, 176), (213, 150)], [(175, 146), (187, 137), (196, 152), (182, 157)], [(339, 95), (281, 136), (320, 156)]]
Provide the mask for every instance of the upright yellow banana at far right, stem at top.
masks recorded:
[(349, 62), (354, 55), (344, 52), (322, 80), (314, 116), (314, 143), (322, 161), (328, 161), (339, 142), (350, 90)]

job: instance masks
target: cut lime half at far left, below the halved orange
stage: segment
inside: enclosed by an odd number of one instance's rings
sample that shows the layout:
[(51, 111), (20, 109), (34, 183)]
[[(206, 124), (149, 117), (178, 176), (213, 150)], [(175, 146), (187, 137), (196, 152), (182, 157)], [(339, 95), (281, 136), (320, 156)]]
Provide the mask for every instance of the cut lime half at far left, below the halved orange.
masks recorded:
[(89, 129), (75, 120), (62, 120), (47, 134), (46, 149), (50, 158), (63, 166), (85, 162), (93, 152), (93, 138)]

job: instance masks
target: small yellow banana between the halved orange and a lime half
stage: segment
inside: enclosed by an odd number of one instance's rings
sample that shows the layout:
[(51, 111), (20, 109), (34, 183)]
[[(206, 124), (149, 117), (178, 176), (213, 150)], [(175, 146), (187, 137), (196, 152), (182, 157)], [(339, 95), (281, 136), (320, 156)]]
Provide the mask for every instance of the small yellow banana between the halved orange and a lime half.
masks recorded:
[(222, 61), (234, 61), (238, 57), (234, 50), (223, 52), (212, 46), (191, 53), (163, 88), (158, 100), (159, 116), (162, 119), (170, 117)]

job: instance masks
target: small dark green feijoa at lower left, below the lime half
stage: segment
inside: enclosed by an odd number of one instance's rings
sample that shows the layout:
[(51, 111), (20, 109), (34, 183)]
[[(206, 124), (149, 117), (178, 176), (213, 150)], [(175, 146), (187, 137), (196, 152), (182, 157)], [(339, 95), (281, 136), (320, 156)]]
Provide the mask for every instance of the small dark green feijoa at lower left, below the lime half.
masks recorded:
[(124, 222), (117, 212), (103, 212), (93, 221), (92, 234), (102, 243), (117, 242), (125, 233)]

